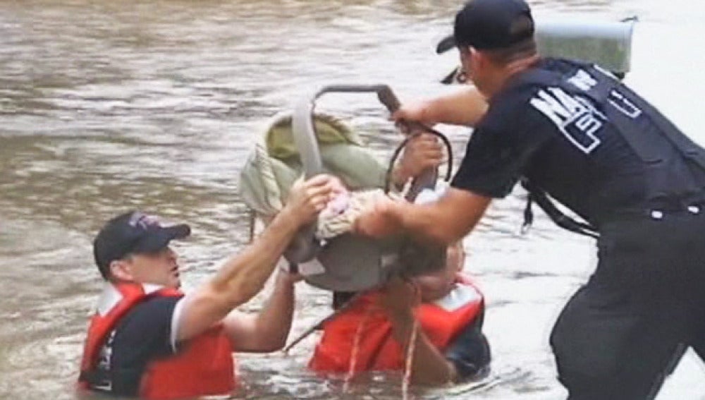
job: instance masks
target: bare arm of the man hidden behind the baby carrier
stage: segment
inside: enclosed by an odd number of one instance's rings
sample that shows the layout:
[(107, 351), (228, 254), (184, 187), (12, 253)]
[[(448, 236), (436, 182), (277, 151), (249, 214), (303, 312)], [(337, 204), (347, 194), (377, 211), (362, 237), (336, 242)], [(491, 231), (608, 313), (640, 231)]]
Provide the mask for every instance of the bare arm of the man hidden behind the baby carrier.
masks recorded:
[[(414, 346), (411, 363), (411, 380), (421, 384), (446, 384), (458, 377), (455, 365), (446, 360), (443, 353), (431, 344), (420, 327), (417, 327), (415, 343), (411, 343), (414, 329), (413, 307), (419, 295), (412, 284), (393, 277), (382, 289), (381, 306), (392, 324), (392, 336), (400, 344), (403, 354)], [(405, 358), (404, 358), (405, 359)], [(406, 359), (405, 359), (405, 362)]]

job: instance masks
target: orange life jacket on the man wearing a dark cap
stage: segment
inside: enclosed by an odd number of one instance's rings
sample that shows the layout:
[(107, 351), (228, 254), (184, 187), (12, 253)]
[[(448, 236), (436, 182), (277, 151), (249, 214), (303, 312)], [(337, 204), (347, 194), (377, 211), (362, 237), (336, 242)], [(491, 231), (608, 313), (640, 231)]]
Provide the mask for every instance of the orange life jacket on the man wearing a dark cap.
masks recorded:
[[(91, 388), (100, 350), (122, 317), (135, 305), (155, 296), (183, 296), (176, 289), (158, 286), (115, 284), (106, 286), (85, 340), (78, 385)], [(150, 400), (185, 399), (228, 394), (235, 389), (235, 365), (230, 340), (221, 325), (183, 343), (183, 349), (147, 364), (140, 380), (139, 396)]]

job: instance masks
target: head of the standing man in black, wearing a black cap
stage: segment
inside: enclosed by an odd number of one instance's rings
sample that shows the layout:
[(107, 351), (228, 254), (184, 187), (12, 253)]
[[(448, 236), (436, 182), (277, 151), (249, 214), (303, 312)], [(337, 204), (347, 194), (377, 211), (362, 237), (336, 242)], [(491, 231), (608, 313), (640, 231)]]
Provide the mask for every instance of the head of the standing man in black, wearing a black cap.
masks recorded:
[(487, 97), (538, 57), (534, 19), (524, 0), (468, 1), (455, 15), (453, 40), (463, 70)]

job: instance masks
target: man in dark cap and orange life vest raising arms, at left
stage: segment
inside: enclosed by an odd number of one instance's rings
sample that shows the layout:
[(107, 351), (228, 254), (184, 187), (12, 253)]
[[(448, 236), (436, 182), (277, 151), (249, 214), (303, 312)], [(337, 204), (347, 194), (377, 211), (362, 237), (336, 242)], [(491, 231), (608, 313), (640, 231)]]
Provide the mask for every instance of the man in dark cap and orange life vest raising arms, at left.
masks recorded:
[(162, 226), (141, 212), (111, 219), (93, 243), (106, 288), (88, 329), (79, 386), (146, 399), (232, 392), (233, 351), (275, 351), (286, 342), (296, 279), (281, 272), (259, 315), (233, 308), (262, 289), (300, 226), (340, 187), (326, 175), (296, 183), (263, 234), (185, 296), (168, 243), (188, 236), (189, 226)]

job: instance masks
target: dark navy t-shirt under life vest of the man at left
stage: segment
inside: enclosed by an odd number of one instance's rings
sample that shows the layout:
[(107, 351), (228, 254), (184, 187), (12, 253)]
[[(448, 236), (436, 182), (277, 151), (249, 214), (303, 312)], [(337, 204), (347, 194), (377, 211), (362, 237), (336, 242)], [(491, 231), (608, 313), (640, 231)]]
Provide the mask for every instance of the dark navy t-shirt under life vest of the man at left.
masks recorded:
[(171, 356), (174, 309), (180, 297), (155, 297), (125, 315), (103, 346), (92, 388), (120, 396), (137, 396), (142, 372), (150, 361)]

